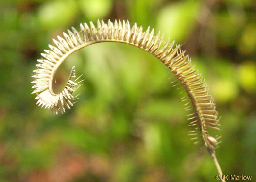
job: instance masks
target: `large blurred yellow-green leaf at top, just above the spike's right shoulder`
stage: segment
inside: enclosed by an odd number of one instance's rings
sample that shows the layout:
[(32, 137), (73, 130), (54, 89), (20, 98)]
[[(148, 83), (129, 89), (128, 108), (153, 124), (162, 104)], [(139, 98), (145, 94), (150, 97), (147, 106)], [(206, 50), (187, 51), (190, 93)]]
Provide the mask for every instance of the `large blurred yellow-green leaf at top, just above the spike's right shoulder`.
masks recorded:
[(199, 8), (199, 1), (194, 0), (168, 5), (159, 12), (157, 29), (161, 30), (166, 38), (180, 42), (195, 25)]

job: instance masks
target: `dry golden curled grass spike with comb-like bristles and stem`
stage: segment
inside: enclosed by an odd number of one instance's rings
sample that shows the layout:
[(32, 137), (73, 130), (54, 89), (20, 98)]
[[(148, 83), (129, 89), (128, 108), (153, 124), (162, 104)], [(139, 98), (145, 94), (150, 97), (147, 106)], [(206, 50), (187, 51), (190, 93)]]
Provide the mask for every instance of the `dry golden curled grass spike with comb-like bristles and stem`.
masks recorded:
[(55, 46), (49, 45), (51, 50), (44, 50), (45, 53), (41, 54), (42, 58), (37, 60), (39, 64), (36, 65), (35, 75), (32, 76), (34, 78), (32, 93), (37, 95), (35, 98), (38, 99), (37, 104), (51, 109), (56, 114), (59, 111), (64, 113), (65, 108), (70, 109), (70, 106), (73, 106), (76, 97), (72, 94), (81, 85), (81, 81), (77, 82), (78, 79), (71, 80), (75, 77), (75, 67), (72, 68), (68, 82), (61, 92), (56, 94), (52, 89), (53, 78), (58, 67), (73, 52), (100, 42), (120, 42), (139, 47), (163, 62), (183, 86), (191, 102), (191, 106), (186, 109), (194, 110), (192, 117), (188, 119), (189, 126), (193, 127), (189, 135), (194, 136), (192, 139), (203, 139), (201, 141), (208, 149), (222, 176), (215, 156), (219, 137), (210, 136), (207, 130), (207, 128), (219, 130), (215, 104), (208, 93), (207, 84), (191, 64), (191, 59), (185, 55), (185, 51), (181, 51), (181, 46), (174, 46), (174, 42), (169, 43), (170, 38), (164, 42), (160, 32), (154, 36), (154, 29), (150, 31), (150, 27), (143, 32), (142, 27), (137, 27), (135, 23), (131, 28), (128, 21), (122, 23), (120, 20), (119, 22), (115, 20), (113, 23), (109, 20), (108, 23), (104, 23), (103, 20), (101, 22), (98, 20), (97, 28), (90, 22), (90, 26), (86, 23), (80, 24), (80, 29), (81, 31), (78, 32), (72, 27), (72, 31), (68, 30), (68, 34), (63, 33), (64, 38), (57, 36), (58, 40), (53, 39)]

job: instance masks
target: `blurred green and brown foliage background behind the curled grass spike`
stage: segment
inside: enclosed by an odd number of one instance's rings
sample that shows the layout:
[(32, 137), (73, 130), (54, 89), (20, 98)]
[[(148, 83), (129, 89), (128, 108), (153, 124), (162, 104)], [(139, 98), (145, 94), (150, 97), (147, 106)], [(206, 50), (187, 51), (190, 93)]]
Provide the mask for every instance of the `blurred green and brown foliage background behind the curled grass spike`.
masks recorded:
[(67, 28), (97, 19), (150, 25), (183, 50), (215, 99), (226, 175), (256, 182), (256, 1), (1, 0), (0, 182), (215, 182), (188, 136), (188, 112), (166, 66), (136, 47), (101, 43), (60, 67), (85, 79), (64, 115), (35, 105), (36, 59)]

